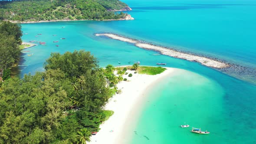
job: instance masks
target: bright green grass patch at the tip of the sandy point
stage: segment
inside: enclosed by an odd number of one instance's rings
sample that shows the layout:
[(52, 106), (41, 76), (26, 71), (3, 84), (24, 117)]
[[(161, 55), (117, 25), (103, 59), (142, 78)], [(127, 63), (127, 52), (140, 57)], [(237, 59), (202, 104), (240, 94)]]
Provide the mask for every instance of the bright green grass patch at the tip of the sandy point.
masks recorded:
[[(124, 67), (121, 67), (124, 68)], [(126, 66), (129, 70), (134, 70), (132, 66)], [(157, 75), (164, 72), (166, 69), (162, 67), (152, 67), (152, 66), (139, 66), (136, 70), (139, 74), (146, 74), (146, 75)]]

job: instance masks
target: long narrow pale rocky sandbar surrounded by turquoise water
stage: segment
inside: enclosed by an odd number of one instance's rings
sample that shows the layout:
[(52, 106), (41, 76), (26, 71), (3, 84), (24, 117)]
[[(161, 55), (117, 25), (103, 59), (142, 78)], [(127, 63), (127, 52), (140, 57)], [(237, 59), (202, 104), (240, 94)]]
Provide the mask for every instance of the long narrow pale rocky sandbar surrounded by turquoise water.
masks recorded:
[(117, 35), (117, 34), (100, 33), (100, 34), (95, 34), (95, 36), (106, 36), (111, 39), (116, 39), (116, 40), (127, 42), (127, 43), (133, 43), (135, 46), (142, 48), (142, 49), (153, 50), (153, 51), (159, 52), (163, 55), (171, 56), (171, 57), (178, 58), (178, 59), (185, 59), (185, 60), (192, 61), (192, 62), (199, 62), (202, 65), (206, 65), (208, 67), (212, 67), (212, 68), (216, 68), (216, 69), (223, 69), (223, 68), (230, 67), (229, 64), (227, 64), (225, 62), (221, 62), (218, 59), (211, 59), (206, 56), (197, 56), (192, 53), (181, 52), (176, 49), (153, 45), (151, 43), (146, 43), (141, 40), (131, 39), (131, 38), (128, 38), (125, 36)]

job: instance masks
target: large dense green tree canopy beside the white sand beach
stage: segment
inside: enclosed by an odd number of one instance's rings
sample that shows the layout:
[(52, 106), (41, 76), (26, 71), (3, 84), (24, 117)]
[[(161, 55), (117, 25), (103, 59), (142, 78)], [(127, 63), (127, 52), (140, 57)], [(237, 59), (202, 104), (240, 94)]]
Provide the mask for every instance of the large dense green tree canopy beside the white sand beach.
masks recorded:
[(0, 143), (82, 143), (105, 120), (113, 93), (89, 52), (53, 53), (45, 72), (5, 81), (0, 89)]

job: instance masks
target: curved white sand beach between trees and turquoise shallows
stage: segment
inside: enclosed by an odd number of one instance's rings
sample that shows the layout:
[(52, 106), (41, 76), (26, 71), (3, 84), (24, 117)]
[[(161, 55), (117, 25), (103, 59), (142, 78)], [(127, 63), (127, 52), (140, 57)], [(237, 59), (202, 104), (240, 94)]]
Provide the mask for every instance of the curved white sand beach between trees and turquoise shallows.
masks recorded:
[(91, 137), (88, 144), (122, 144), (124, 139), (128, 138), (124, 134), (125, 131), (131, 127), (127, 121), (141, 107), (145, 94), (152, 86), (177, 71), (179, 69), (166, 68), (161, 74), (145, 75), (128, 70), (127, 72), (133, 76), (123, 75), (128, 81), (122, 81), (117, 85), (122, 93), (113, 96), (105, 106), (106, 110), (112, 110), (114, 114), (100, 125), (101, 130)]

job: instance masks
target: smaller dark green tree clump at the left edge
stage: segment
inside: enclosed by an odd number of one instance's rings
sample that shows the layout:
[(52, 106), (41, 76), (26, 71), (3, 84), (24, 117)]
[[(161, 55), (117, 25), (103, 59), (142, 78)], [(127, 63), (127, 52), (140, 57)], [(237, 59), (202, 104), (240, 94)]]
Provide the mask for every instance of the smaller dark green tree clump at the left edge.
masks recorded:
[(0, 77), (20, 56), (18, 45), (21, 41), (21, 26), (9, 21), (0, 23)]

